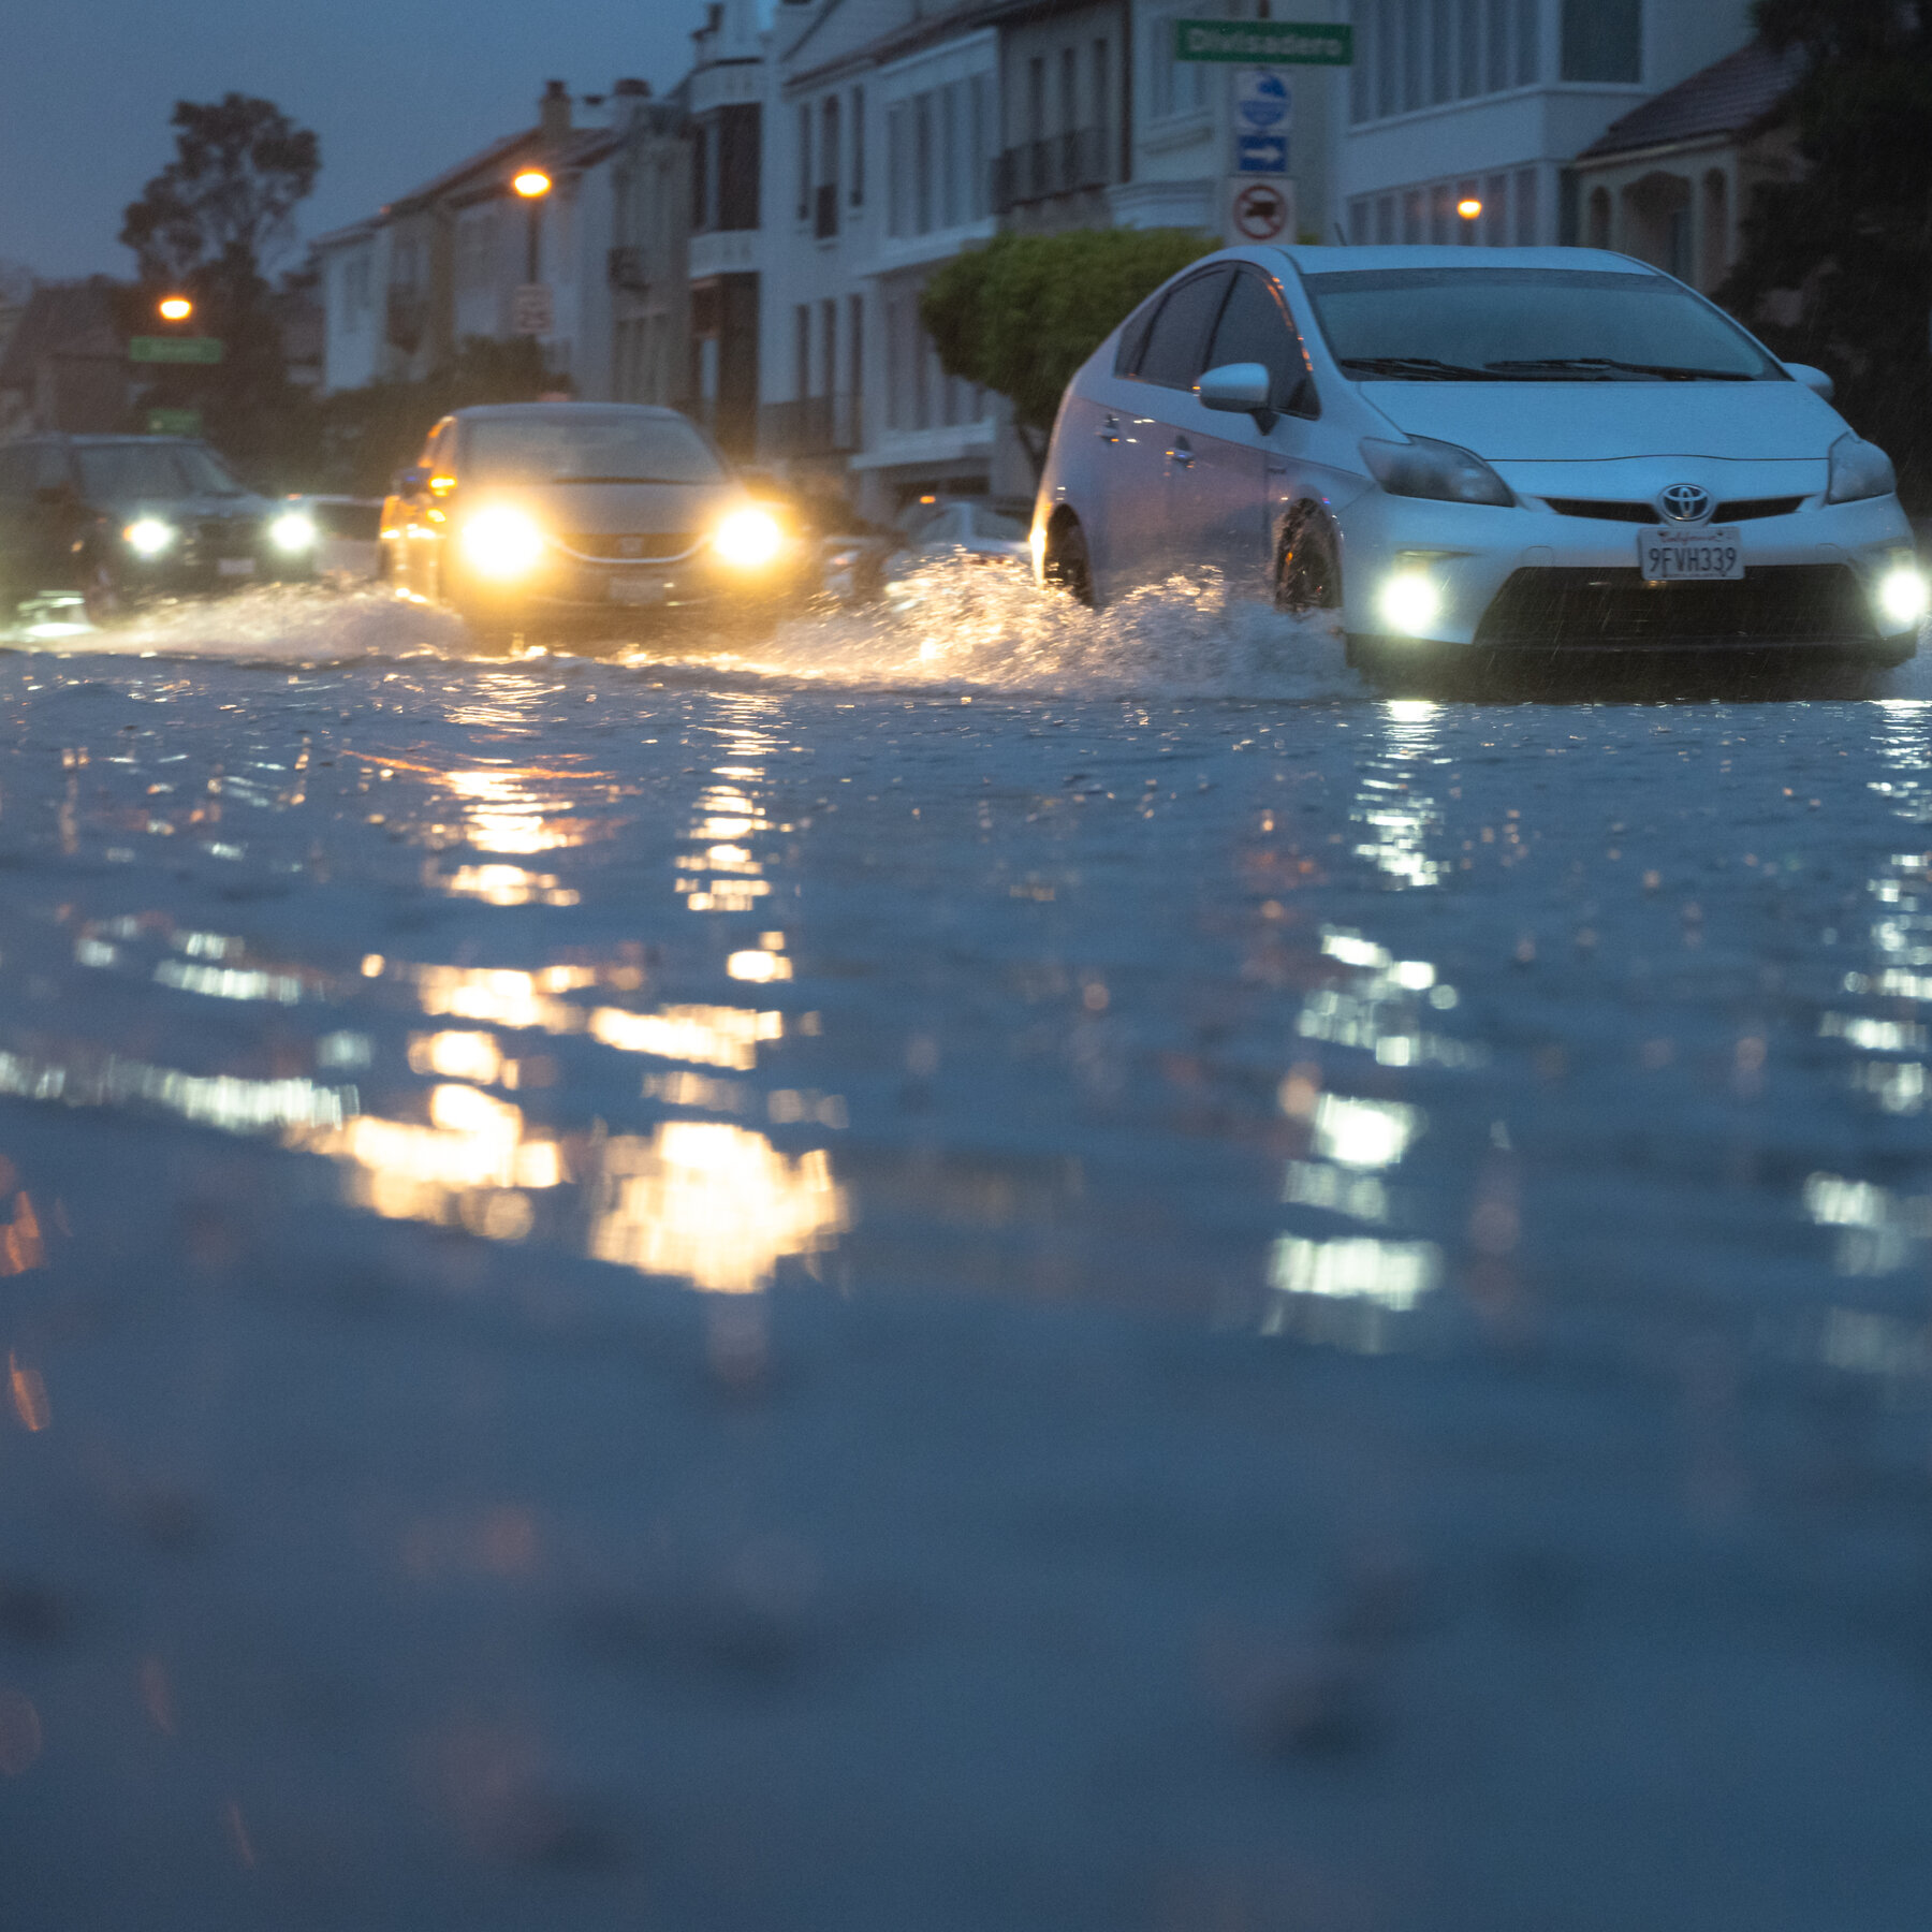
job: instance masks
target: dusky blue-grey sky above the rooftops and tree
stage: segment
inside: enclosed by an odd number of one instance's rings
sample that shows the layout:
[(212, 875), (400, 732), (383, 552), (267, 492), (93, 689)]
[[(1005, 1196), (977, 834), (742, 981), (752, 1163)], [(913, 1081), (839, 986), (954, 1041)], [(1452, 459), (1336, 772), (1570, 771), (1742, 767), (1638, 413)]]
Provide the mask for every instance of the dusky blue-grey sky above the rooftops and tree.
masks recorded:
[[(122, 209), (172, 155), (174, 102), (265, 95), (323, 139), (321, 234), (620, 73), (663, 91), (703, 0), (15, 0), (0, 56), (0, 259), (128, 274)], [(286, 265), (284, 265), (286, 267)]]

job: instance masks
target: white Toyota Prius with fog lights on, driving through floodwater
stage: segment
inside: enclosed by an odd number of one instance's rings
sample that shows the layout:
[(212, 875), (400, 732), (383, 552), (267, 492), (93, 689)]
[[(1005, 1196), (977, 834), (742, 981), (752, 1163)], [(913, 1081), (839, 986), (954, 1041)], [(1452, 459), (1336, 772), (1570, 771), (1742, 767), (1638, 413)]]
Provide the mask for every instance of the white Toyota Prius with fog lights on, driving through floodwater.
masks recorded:
[(1350, 655), (1913, 655), (1891, 464), (1671, 276), (1596, 249), (1246, 247), (1142, 303), (1068, 384), (1045, 583), (1209, 566)]

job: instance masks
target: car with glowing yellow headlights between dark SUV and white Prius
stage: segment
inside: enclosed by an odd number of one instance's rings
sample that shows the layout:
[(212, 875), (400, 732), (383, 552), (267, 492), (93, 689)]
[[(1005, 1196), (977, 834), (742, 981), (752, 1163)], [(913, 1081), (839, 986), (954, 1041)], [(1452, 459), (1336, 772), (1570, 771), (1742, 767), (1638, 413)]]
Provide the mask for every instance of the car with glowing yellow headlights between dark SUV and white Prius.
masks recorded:
[(487, 643), (703, 622), (767, 632), (815, 554), (674, 410), (516, 402), (458, 410), (383, 506), (383, 576)]

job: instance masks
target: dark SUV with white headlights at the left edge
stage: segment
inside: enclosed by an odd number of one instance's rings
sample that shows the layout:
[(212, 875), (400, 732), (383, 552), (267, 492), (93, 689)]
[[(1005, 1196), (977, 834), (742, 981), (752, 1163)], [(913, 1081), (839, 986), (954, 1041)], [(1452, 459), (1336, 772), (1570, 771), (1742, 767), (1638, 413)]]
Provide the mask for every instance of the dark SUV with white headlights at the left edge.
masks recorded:
[(0, 442), (0, 616), (79, 595), (93, 618), (151, 595), (315, 574), (315, 522), (184, 437)]

